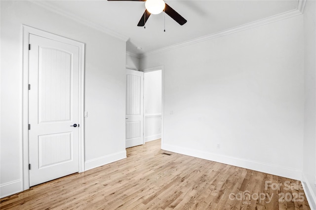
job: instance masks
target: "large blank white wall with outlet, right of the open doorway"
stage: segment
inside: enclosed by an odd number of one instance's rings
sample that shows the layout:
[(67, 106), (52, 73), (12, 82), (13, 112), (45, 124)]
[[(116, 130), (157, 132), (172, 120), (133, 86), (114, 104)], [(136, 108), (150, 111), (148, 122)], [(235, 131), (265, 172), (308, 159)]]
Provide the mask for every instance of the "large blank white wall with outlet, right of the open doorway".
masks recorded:
[(300, 179), (303, 45), (300, 15), (143, 57), (164, 66), (162, 148)]

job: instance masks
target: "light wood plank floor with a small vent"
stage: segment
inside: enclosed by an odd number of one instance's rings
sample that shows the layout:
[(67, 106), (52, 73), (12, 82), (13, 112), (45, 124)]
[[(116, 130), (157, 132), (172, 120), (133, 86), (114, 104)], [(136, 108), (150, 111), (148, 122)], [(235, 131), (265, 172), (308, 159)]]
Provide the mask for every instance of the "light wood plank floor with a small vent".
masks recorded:
[(163, 151), (155, 140), (128, 148), (126, 159), (3, 198), (0, 209), (309, 210), (299, 183)]

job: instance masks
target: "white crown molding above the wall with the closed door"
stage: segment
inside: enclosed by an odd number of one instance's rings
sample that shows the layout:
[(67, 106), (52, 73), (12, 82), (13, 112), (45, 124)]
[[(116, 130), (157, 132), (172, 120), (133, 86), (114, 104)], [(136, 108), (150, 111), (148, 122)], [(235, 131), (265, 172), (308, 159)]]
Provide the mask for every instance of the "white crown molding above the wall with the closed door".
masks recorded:
[(74, 20), (74, 21), (76, 21), (78, 23), (81, 23), (81, 24), (83, 24), (85, 26), (93, 28), (93, 29), (95, 29), (97, 31), (103, 32), (103, 33), (105, 33), (107, 35), (114, 36), (114, 37), (116, 37), (118, 39), (121, 39), (121, 40), (123, 40), (125, 42), (129, 39), (128, 36), (121, 35), (121, 34), (115, 32), (115, 31), (112, 31), (112, 30), (110, 30), (110, 29), (108, 29), (106, 27), (103, 27), (103, 26), (99, 25), (99, 24), (95, 24), (95, 23), (93, 23), (91, 21), (87, 21), (87, 20), (85, 20), (85, 19), (83, 19), (83, 18), (81, 18), (81, 17), (79, 17), (77, 15), (70, 14), (69, 12), (66, 12), (66, 11), (56, 7), (56, 6), (52, 6), (52, 5), (48, 4), (46, 1), (43, 1), (43, 0), (31, 0), (30, 2), (32, 2), (34, 4), (37, 4), (37, 5), (39, 5), (39, 6), (43, 7), (43, 8), (51, 11), (51, 12), (57, 13), (59, 15), (67, 17), (67, 18), (69, 18), (71, 20)]

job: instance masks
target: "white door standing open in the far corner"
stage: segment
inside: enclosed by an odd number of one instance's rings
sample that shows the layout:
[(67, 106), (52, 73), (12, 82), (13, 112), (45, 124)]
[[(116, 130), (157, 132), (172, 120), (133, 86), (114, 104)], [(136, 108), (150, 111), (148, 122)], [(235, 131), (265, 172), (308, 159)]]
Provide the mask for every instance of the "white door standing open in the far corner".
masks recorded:
[(144, 143), (144, 73), (126, 70), (126, 148)]

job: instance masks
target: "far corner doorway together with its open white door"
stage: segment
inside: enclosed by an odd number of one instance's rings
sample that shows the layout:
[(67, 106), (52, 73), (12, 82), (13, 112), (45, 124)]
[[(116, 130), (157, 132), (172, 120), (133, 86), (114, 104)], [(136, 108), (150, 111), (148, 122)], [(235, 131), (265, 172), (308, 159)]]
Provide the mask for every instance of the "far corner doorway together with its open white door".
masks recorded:
[(125, 147), (163, 142), (163, 66), (126, 70)]

